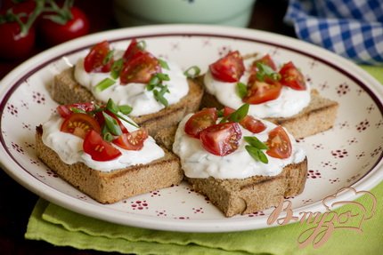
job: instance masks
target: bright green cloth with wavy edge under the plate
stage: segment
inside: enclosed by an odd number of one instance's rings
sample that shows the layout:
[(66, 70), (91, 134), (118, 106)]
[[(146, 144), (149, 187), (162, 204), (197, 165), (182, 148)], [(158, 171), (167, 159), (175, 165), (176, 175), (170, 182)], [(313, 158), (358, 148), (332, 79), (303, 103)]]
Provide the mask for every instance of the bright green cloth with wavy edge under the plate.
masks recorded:
[[(363, 68), (383, 84), (383, 68)], [(297, 241), (299, 235), (316, 224), (294, 223), (232, 233), (178, 233), (92, 219), (43, 199), (30, 216), (25, 237), (77, 249), (135, 254), (383, 254), (383, 181), (371, 194), (377, 199), (376, 212), (371, 219), (362, 221), (362, 231), (337, 228), (319, 248), (312, 243), (299, 248)], [(355, 202), (371, 208), (370, 198), (363, 195)], [(334, 212), (340, 217), (346, 211), (355, 212), (355, 206), (347, 204)], [(356, 227), (360, 219), (351, 218), (346, 225)]]

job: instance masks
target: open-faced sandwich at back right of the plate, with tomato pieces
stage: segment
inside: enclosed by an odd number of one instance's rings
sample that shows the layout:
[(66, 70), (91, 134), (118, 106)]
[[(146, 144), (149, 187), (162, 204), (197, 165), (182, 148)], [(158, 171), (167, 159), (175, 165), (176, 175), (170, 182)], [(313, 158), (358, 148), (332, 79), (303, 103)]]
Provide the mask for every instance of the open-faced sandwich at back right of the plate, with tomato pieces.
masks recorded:
[(229, 52), (209, 65), (203, 80), (204, 107), (249, 103), (249, 115), (281, 124), (296, 138), (330, 129), (337, 115), (338, 103), (311, 90), (292, 61), (276, 65), (269, 54), (244, 60)]

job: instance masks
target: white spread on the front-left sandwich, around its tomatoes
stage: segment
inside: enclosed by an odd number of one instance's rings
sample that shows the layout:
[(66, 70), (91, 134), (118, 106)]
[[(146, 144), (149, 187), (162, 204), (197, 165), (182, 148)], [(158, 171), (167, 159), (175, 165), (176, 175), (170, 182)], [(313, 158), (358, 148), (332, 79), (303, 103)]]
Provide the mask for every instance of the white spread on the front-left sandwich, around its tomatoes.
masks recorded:
[[(128, 117), (126, 117), (126, 119), (130, 120)], [(113, 171), (141, 163), (151, 163), (151, 161), (165, 155), (164, 150), (156, 144), (155, 140), (148, 137), (148, 139), (145, 139), (143, 142), (143, 148), (141, 150), (126, 150), (113, 145), (118, 148), (122, 155), (110, 161), (94, 161), (91, 155), (83, 151), (84, 139), (60, 131), (63, 121), (64, 119), (61, 116), (55, 115), (43, 124), (43, 142), (47, 147), (52, 148), (64, 163), (72, 164), (82, 162), (94, 170)], [(128, 131), (137, 130), (136, 127), (127, 124), (124, 120), (121, 120), (121, 122), (126, 126)]]

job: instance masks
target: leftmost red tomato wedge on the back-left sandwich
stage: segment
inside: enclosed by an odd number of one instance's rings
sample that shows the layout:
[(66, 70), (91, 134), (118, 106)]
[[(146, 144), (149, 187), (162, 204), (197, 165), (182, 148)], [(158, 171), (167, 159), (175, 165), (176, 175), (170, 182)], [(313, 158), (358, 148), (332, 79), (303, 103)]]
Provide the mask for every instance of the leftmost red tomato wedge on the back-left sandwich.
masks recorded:
[(84, 68), (86, 69), (86, 72), (110, 72), (110, 68), (114, 60), (113, 58), (108, 60), (109, 53), (110, 44), (108, 41), (103, 41), (99, 44), (95, 44), (91, 51), (86, 55), (86, 59), (84, 60)]

